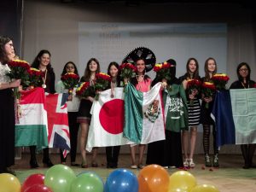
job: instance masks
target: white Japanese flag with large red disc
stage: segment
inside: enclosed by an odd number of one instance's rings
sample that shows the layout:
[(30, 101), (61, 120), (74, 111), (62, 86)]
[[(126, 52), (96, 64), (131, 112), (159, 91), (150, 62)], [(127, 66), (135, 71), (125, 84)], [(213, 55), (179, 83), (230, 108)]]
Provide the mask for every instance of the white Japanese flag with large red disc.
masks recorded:
[(93, 102), (90, 113), (90, 129), (86, 149), (131, 143), (123, 137), (124, 128), (124, 89), (114, 88), (100, 93), (98, 101)]

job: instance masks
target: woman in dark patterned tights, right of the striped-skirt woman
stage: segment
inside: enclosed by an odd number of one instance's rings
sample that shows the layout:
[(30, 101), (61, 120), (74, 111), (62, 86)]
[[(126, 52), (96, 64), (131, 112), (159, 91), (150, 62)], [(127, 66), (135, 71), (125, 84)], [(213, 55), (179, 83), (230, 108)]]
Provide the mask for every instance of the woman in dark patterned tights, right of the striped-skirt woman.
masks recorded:
[[(212, 76), (217, 72), (217, 63), (216, 61), (210, 57), (205, 62), (205, 77), (202, 78), (202, 82), (211, 81)], [(214, 101), (214, 96), (205, 97), (202, 95), (201, 97), (201, 124), (203, 125), (203, 147), (205, 153), (205, 166), (207, 167), (218, 167), (218, 147), (216, 143), (216, 129), (215, 123), (211, 118), (212, 106)], [(209, 108), (206, 108), (206, 103), (209, 103)], [(213, 135), (213, 162), (209, 156), (209, 148), (210, 148), (210, 133), (211, 133), (211, 125), (212, 125), (212, 135)]]

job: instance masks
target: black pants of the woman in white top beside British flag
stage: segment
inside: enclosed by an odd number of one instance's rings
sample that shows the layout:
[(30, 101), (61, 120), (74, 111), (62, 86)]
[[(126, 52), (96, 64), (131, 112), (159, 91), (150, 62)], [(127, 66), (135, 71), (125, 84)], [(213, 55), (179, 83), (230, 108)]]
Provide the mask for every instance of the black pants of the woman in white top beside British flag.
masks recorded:
[[(78, 112), (68, 112), (68, 126), (70, 135), (70, 159), (71, 162), (76, 161), (79, 123), (77, 123)], [(61, 162), (66, 162), (67, 157), (64, 158), (61, 150)]]

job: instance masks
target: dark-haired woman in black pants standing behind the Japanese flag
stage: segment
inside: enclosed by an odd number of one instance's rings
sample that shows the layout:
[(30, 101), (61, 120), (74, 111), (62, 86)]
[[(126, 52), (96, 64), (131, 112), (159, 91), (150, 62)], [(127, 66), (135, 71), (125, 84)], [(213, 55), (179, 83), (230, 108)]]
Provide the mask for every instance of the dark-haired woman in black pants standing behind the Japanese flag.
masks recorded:
[[(111, 89), (111, 97), (113, 97), (113, 89), (120, 87), (119, 77), (119, 64), (117, 62), (111, 62), (108, 65), (108, 75), (111, 77), (109, 89)], [(107, 155), (107, 168), (117, 168), (119, 161), (120, 146), (109, 146), (106, 147)]]

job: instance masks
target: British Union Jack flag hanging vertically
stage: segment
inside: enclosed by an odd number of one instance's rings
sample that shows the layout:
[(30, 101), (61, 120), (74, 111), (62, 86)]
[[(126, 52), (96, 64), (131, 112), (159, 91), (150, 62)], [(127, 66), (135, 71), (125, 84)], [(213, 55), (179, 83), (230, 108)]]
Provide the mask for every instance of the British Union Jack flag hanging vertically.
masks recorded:
[(49, 148), (61, 148), (66, 157), (70, 150), (67, 119), (67, 94), (46, 95), (45, 106), (48, 116)]

